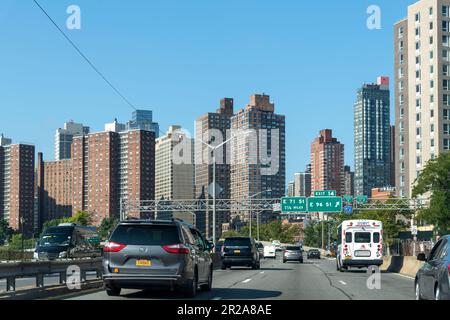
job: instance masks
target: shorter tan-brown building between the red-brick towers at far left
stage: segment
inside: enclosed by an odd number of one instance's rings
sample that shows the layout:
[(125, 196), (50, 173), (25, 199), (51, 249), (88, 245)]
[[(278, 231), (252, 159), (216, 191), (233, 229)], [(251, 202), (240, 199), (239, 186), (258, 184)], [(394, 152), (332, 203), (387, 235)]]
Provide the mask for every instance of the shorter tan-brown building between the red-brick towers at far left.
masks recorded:
[(71, 217), (72, 160), (44, 161), (38, 153), (36, 174), (39, 229), (47, 221)]

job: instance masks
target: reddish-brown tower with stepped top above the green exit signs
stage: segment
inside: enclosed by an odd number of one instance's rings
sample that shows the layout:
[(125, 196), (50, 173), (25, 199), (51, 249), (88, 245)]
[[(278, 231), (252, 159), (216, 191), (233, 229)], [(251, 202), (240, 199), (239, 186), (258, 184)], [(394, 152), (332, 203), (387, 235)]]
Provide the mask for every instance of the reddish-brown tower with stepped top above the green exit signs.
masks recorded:
[(330, 129), (320, 131), (311, 144), (311, 189), (344, 195), (344, 145), (333, 138)]

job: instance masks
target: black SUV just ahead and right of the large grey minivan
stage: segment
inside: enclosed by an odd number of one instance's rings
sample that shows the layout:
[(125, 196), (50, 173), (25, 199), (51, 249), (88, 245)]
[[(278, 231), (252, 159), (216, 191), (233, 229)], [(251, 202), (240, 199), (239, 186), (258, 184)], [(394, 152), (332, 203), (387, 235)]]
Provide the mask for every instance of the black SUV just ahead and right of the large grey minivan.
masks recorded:
[(248, 237), (226, 238), (222, 246), (222, 270), (234, 266), (260, 268), (259, 251), (255, 240)]

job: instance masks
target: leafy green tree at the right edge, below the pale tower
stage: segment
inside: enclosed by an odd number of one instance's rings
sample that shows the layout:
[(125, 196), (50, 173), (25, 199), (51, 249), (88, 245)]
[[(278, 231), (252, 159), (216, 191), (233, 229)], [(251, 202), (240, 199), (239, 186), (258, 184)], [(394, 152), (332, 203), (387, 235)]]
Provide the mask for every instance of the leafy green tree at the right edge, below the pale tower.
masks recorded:
[(420, 210), (416, 218), (433, 224), (442, 236), (450, 230), (450, 152), (430, 160), (414, 182), (414, 198), (428, 193), (430, 206)]

